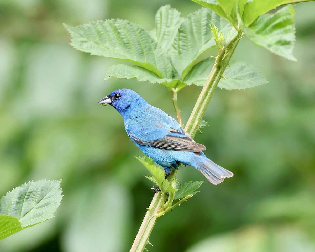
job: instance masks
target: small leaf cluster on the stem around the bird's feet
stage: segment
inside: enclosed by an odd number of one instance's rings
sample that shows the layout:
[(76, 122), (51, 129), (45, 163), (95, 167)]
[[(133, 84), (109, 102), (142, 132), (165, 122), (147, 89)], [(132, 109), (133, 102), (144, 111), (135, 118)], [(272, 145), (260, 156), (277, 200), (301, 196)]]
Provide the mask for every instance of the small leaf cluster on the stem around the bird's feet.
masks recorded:
[[(151, 180), (155, 183), (161, 190), (163, 197), (163, 205), (162, 209), (159, 212), (159, 216), (165, 214), (166, 212), (174, 209), (176, 206), (180, 205), (180, 203), (186, 201), (188, 198), (191, 198), (192, 195), (196, 194), (196, 191), (203, 181), (187, 181), (184, 184), (179, 184), (178, 188), (177, 183), (175, 181), (174, 184), (171, 184), (168, 180), (164, 178), (164, 172), (157, 166), (154, 165), (152, 158), (150, 157), (136, 157), (145, 167), (150, 171), (152, 176), (146, 176), (147, 179)], [(169, 193), (169, 198), (167, 199), (165, 193)], [(174, 204), (175, 200), (179, 200)], [(165, 204), (164, 204), (165, 203)]]

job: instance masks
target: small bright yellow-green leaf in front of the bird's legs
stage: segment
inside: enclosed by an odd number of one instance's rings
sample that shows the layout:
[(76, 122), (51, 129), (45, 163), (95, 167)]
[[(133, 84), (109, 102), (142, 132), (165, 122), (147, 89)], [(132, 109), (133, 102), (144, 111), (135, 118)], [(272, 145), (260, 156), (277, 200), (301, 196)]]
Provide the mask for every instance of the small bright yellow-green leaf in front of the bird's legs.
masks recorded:
[(164, 172), (154, 165), (151, 157), (136, 157), (145, 167), (149, 170), (153, 177), (146, 176), (147, 179), (157, 184), (162, 193), (165, 192), (176, 192), (177, 190), (169, 183), (168, 180), (164, 179)]

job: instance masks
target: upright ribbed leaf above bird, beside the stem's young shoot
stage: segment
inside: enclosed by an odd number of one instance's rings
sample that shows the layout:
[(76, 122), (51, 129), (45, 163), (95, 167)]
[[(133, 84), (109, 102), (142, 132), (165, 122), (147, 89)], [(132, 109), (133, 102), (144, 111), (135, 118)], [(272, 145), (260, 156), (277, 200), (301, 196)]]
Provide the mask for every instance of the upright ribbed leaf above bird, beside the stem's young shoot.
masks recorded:
[(223, 33), (231, 30), (231, 24), (209, 9), (202, 8), (189, 14), (180, 25), (169, 49), (169, 57), (175, 68), (175, 76), (184, 79), (198, 57), (215, 46), (209, 20)]

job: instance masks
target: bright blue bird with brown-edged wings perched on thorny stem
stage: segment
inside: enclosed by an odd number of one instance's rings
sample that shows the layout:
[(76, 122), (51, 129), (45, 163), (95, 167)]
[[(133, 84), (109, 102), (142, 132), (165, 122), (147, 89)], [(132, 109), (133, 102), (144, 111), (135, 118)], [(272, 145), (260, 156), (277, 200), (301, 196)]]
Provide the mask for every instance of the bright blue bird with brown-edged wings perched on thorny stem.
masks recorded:
[(131, 89), (118, 89), (99, 101), (112, 105), (122, 116), (130, 139), (161, 165), (166, 176), (181, 163), (200, 171), (212, 184), (219, 184), (233, 173), (213, 163), (175, 119), (148, 104)]

